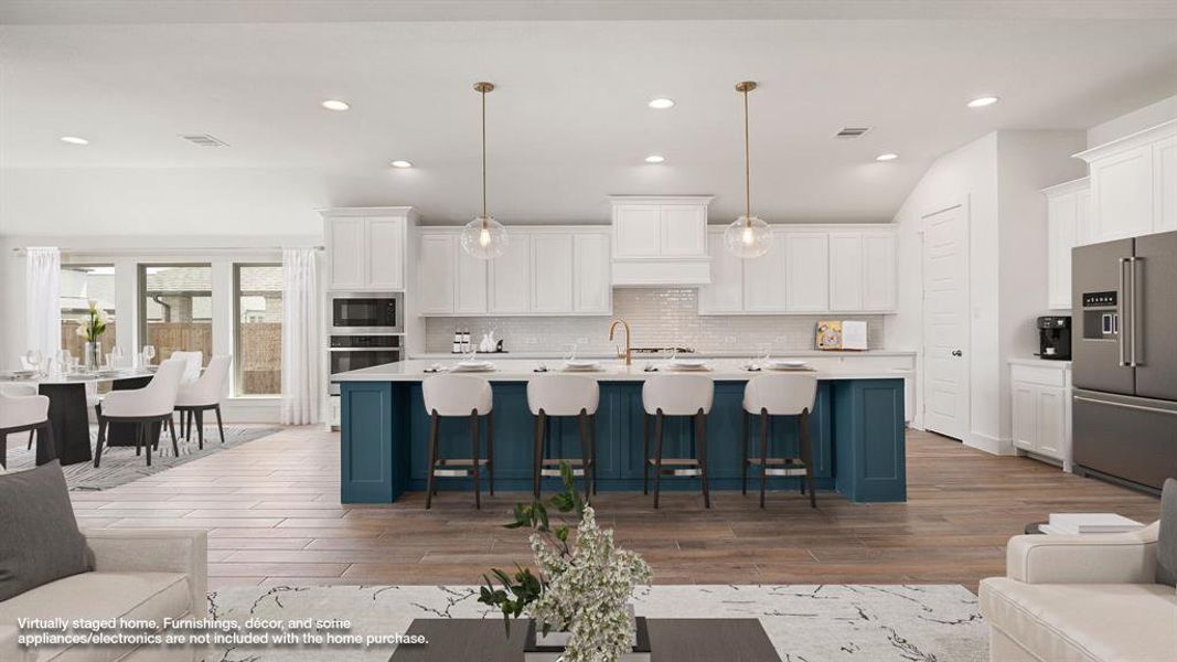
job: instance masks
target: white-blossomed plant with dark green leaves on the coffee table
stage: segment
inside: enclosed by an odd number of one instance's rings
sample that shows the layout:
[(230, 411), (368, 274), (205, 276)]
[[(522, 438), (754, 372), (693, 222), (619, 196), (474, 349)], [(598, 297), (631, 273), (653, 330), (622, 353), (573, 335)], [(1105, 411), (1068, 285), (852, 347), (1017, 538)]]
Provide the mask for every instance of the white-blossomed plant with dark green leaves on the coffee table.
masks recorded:
[[(565, 523), (552, 527), (548, 507), (536, 501), (516, 504), (508, 529), (530, 528), (531, 549), (539, 574), (517, 567), (514, 575), (492, 569), (496, 588), (484, 576), (478, 601), (497, 607), (505, 620), (532, 618), (528, 650), (558, 649), (564, 662), (619, 662), (649, 660), (644, 620), (636, 620), (630, 601), (637, 584), (650, 581), (650, 565), (638, 554), (613, 544), (612, 529), (600, 529), (593, 508), (576, 491), (572, 468), (560, 465), (564, 490), (548, 499)], [(576, 516), (576, 535), (568, 524)], [(572, 538), (572, 539), (570, 539)], [(531, 641), (532, 638), (537, 641)], [(545, 641), (546, 640), (546, 641)], [(554, 646), (544, 646), (554, 644)], [(636, 646), (638, 643), (639, 646)], [(643, 657), (634, 653), (645, 653)]]

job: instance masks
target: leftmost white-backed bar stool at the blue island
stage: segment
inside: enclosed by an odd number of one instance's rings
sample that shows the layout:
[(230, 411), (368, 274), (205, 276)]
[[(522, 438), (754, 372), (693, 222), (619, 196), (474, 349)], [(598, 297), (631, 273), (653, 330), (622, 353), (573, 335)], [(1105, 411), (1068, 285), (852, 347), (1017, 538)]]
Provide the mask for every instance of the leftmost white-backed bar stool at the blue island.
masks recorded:
[[(481, 468), (491, 478), (491, 496), (494, 496), (494, 419), (491, 412), (491, 383), (471, 375), (437, 375), (421, 382), (425, 411), (430, 412), (430, 475), (426, 483), (425, 508), (433, 504), (437, 478), (473, 476), (474, 508), (483, 508), (479, 479)], [(438, 458), (438, 428), (443, 416), (470, 417), (471, 456), (468, 458)], [(481, 458), (479, 435), (481, 417), (486, 417), (486, 458)]]

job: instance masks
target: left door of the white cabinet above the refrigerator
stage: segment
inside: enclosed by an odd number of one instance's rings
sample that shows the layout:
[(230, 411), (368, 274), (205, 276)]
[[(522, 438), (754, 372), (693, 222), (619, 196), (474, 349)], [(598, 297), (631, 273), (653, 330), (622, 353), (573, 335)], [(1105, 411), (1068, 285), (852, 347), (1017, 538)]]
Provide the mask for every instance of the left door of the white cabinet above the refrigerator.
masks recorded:
[(1152, 177), (1151, 145), (1091, 164), (1095, 241), (1152, 232)]

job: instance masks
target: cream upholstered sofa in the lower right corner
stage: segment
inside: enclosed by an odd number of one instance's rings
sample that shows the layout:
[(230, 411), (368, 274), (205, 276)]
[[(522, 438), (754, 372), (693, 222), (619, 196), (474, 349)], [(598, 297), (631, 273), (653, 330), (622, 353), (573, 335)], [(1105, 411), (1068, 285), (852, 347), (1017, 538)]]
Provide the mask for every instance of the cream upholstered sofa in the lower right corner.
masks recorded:
[(1006, 576), (980, 582), (990, 660), (1177, 660), (1177, 590), (1155, 581), (1158, 529), (1011, 538)]

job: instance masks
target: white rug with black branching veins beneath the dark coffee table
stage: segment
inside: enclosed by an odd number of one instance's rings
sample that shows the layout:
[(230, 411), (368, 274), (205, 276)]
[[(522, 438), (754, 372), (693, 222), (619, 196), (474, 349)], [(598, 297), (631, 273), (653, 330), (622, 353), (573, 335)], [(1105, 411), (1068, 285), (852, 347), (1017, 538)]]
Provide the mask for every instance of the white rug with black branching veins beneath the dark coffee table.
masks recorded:
[[(499, 618), (474, 587), (234, 587), (208, 596), (214, 618), (346, 620), (352, 635), (405, 633), (413, 618)], [(639, 616), (759, 618), (784, 662), (983, 662), (988, 627), (977, 597), (957, 584), (656, 585)], [(213, 647), (207, 662), (387, 661), (371, 648)], [(496, 661), (486, 661), (496, 662)]]

